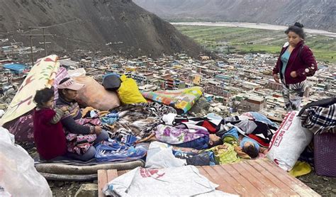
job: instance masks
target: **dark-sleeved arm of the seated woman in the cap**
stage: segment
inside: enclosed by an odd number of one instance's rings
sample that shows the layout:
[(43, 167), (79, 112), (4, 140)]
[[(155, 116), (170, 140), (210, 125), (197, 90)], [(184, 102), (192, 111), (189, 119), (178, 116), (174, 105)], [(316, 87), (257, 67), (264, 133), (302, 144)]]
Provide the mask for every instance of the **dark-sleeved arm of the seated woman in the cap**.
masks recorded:
[(74, 134), (92, 134), (94, 133), (94, 126), (89, 127), (89, 126), (84, 126), (84, 125), (79, 125), (74, 121), (74, 118), (72, 116), (67, 116), (66, 118), (63, 118), (61, 120), (61, 123), (67, 130), (69, 130), (70, 133)]

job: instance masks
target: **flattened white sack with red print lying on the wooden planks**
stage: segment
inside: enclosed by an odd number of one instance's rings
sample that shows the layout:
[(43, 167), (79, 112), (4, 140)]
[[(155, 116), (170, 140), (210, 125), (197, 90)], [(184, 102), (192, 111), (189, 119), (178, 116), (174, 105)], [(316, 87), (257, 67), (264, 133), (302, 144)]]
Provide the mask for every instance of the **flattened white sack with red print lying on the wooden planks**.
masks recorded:
[[(218, 185), (201, 175), (194, 166), (145, 169), (138, 167), (110, 181), (104, 188), (106, 195), (120, 196), (212, 196)], [(222, 193), (226, 196), (226, 193)]]

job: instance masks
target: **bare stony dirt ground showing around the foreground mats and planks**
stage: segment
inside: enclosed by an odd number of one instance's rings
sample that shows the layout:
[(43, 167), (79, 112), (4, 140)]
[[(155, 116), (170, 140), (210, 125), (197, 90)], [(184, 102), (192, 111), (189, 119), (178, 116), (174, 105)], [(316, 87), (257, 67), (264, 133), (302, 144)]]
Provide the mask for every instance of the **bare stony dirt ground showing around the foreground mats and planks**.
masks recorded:
[[(34, 157), (36, 150), (34, 145), (20, 144), (23, 148), (28, 150), (30, 156)], [(298, 177), (300, 181), (319, 193), (321, 196), (336, 196), (336, 177), (318, 176), (315, 171), (310, 172), (305, 176)], [(50, 189), (52, 190), (52, 196), (74, 196), (82, 184), (97, 184), (98, 181), (47, 181)]]

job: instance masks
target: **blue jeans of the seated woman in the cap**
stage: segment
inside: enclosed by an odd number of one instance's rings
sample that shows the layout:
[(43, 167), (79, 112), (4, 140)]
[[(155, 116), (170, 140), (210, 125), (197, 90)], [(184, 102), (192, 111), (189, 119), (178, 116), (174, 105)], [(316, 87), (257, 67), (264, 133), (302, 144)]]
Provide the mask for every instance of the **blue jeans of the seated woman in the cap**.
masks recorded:
[[(104, 140), (108, 140), (108, 133), (106, 130), (101, 130), (101, 134), (99, 134), (96, 140), (94, 140), (94, 145)], [(87, 152), (85, 152), (82, 155), (76, 154), (74, 152), (68, 152), (67, 157), (70, 157), (72, 159), (81, 160), (83, 162), (87, 162), (90, 159), (94, 158), (95, 154), (96, 154), (96, 148), (94, 146), (91, 146), (89, 147), (89, 150), (87, 150)]]

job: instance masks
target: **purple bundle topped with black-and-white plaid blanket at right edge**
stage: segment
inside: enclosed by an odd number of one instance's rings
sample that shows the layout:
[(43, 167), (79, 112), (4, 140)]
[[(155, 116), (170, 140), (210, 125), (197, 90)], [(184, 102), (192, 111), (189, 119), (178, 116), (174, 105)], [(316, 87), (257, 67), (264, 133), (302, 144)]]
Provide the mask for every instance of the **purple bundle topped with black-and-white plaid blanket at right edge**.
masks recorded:
[[(336, 176), (336, 98), (308, 103), (298, 114), (301, 125), (314, 134), (313, 143), (302, 159), (320, 176)], [(301, 158), (300, 158), (301, 159)]]

